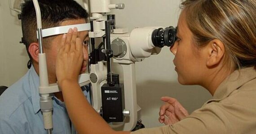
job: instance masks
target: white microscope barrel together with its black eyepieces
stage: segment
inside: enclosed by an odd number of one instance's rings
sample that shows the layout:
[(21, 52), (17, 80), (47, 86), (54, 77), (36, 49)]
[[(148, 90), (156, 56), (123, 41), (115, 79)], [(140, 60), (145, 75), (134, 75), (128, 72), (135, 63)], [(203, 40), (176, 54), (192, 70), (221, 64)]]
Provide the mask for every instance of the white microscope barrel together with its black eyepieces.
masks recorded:
[(177, 28), (173, 26), (144, 27), (133, 29), (129, 37), (132, 56), (146, 58), (158, 54), (163, 46), (172, 47), (177, 40)]

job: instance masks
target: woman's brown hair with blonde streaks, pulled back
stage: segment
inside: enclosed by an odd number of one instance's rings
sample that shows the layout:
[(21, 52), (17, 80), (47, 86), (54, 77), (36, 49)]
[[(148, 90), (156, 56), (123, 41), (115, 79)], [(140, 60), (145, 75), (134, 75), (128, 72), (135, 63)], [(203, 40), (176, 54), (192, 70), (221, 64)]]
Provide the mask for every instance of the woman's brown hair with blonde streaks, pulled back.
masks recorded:
[(197, 46), (219, 39), (231, 64), (256, 69), (256, 0), (185, 0), (181, 5)]

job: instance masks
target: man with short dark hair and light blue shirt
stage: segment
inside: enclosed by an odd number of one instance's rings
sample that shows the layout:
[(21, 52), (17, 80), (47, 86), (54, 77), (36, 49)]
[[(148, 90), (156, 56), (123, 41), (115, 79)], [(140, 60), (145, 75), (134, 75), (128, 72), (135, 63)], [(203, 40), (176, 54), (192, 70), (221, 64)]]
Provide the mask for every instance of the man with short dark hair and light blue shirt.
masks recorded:
[[(86, 23), (88, 13), (74, 0), (38, 0), (43, 29), (56, 26)], [(22, 5), (23, 42), (32, 63), (29, 71), (18, 82), (0, 96), (0, 134), (45, 134), (43, 117), (40, 112), (39, 96), (39, 44), (36, 37), (36, 15), (32, 0)], [(77, 29), (73, 29), (77, 31)], [(72, 29), (69, 30), (72, 33)], [(63, 34), (43, 38), (47, 59), (49, 84), (57, 82), (55, 64), (57, 48)], [(88, 63), (88, 31), (78, 32), (82, 41), (84, 61), (80, 73), (86, 71)], [(87, 91), (84, 90), (84, 95)], [(75, 134), (75, 128), (66, 112), (61, 92), (53, 96), (53, 134)]]

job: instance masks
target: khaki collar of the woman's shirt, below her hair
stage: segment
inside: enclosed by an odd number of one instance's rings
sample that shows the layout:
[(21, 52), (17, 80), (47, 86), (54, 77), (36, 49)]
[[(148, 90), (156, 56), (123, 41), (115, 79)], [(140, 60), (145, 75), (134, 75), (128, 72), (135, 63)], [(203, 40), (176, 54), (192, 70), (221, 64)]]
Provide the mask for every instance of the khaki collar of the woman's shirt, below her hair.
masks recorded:
[(243, 86), (250, 80), (256, 78), (256, 70), (254, 67), (247, 67), (234, 71), (228, 76), (216, 89), (213, 95), (214, 100), (222, 100), (230, 95), (231, 92)]

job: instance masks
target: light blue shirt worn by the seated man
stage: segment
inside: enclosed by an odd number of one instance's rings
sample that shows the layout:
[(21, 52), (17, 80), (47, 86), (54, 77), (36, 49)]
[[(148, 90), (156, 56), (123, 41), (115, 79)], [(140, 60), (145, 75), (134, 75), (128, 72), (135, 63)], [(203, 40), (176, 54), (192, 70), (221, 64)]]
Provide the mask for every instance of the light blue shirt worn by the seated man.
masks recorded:
[[(0, 134), (47, 134), (40, 111), (39, 76), (33, 66), (0, 96)], [(87, 91), (84, 90), (84, 95)], [(64, 102), (53, 97), (53, 134), (76, 134)]]

